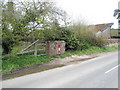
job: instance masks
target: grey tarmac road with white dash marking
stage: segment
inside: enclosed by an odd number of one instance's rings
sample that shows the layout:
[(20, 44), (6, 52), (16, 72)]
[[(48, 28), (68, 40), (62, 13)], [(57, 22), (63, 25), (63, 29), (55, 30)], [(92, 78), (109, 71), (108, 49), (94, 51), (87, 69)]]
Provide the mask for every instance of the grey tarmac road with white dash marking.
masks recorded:
[(3, 88), (118, 88), (118, 52), (3, 81)]

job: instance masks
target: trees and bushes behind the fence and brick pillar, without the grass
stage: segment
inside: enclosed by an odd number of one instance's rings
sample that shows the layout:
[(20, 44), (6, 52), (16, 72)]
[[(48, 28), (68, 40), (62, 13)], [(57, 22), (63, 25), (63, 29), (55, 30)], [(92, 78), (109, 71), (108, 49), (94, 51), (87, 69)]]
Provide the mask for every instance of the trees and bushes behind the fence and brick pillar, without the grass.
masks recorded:
[[(66, 13), (53, 2), (7, 2), (2, 5), (3, 54), (20, 52), (23, 42), (31, 43), (37, 39), (43, 42), (64, 40), (66, 50), (84, 50), (90, 46), (105, 45), (87, 25), (69, 25)], [(60, 22), (64, 24), (61, 26)]]

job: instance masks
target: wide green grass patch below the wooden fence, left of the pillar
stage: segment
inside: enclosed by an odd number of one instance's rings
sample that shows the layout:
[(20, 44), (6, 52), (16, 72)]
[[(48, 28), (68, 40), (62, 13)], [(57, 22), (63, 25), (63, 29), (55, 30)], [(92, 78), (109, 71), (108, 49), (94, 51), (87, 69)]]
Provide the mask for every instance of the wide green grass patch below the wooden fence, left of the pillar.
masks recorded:
[(41, 64), (52, 60), (50, 56), (30, 56), (19, 55), (9, 56), (2, 59), (3, 74), (10, 73), (12, 70), (16, 70), (23, 67), (29, 67), (36, 64)]

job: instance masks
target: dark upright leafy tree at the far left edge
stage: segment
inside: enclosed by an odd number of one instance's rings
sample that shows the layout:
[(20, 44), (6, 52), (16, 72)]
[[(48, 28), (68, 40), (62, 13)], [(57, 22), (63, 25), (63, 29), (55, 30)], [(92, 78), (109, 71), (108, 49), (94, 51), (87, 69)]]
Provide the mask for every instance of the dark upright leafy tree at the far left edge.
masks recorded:
[(17, 38), (14, 36), (13, 31), (16, 19), (14, 17), (14, 3), (7, 2), (2, 7), (2, 47), (4, 53), (8, 54), (12, 47), (17, 44)]

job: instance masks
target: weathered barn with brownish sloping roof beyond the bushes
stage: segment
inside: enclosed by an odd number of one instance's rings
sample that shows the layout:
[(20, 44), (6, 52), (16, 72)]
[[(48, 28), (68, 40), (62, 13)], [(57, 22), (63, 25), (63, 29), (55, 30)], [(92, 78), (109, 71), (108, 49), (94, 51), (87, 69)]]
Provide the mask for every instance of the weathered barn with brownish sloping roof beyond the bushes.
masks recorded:
[(90, 27), (93, 28), (96, 37), (109, 39), (111, 38), (111, 26), (112, 25), (113, 23), (106, 23), (106, 24), (90, 25)]

